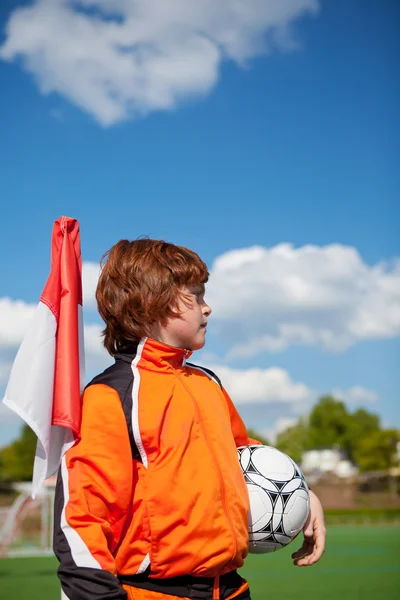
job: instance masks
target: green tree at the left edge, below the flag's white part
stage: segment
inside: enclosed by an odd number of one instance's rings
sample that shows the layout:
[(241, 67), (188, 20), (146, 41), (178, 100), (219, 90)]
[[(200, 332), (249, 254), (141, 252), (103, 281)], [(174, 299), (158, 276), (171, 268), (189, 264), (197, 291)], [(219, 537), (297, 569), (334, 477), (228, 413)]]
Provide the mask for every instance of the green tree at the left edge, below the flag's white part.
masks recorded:
[(0, 478), (3, 481), (32, 479), (36, 440), (32, 429), (24, 425), (20, 437), (0, 451)]

